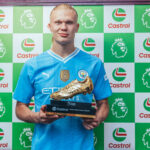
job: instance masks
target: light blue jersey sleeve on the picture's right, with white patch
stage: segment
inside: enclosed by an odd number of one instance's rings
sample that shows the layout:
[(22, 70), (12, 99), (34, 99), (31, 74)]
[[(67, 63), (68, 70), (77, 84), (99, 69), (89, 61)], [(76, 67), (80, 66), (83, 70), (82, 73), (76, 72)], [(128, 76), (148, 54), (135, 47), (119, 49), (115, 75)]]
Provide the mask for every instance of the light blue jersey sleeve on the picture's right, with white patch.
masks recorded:
[(99, 64), (98, 76), (94, 85), (93, 94), (96, 100), (105, 99), (112, 94), (103, 63)]

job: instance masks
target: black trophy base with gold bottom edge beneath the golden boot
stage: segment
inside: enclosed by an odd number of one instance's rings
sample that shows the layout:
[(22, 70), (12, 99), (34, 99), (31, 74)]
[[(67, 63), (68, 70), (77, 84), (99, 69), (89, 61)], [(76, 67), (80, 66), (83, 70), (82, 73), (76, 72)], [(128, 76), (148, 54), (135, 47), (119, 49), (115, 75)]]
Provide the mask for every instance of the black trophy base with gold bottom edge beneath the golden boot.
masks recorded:
[(46, 106), (46, 114), (95, 118), (96, 109), (90, 103), (51, 100)]

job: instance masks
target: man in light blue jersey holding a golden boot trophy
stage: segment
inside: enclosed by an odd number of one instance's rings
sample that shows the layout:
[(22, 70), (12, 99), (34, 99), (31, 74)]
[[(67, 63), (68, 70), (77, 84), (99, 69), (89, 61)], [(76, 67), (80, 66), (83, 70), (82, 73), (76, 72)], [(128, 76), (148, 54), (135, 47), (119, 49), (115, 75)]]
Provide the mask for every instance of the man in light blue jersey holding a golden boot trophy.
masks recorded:
[[(28, 60), (21, 71), (14, 93), (16, 115), (23, 121), (36, 123), (32, 150), (93, 150), (92, 129), (108, 115), (107, 97), (111, 95), (111, 89), (103, 64), (97, 57), (74, 46), (79, 28), (77, 18), (71, 6), (56, 6), (48, 25), (53, 34), (51, 49)], [(44, 110), (50, 103), (50, 94), (75, 79), (83, 80), (87, 75), (94, 84), (92, 94), (80, 94), (71, 101), (91, 103), (94, 95), (98, 106), (96, 118), (47, 116)], [(28, 108), (32, 96), (36, 112)]]

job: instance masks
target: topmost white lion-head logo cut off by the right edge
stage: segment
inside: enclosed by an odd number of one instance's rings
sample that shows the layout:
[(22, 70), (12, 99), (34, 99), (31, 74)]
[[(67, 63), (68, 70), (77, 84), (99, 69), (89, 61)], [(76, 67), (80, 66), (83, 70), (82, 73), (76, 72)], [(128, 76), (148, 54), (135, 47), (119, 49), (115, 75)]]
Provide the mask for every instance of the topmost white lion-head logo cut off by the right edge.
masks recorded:
[(142, 23), (146, 28), (150, 28), (150, 9), (146, 9), (142, 15)]

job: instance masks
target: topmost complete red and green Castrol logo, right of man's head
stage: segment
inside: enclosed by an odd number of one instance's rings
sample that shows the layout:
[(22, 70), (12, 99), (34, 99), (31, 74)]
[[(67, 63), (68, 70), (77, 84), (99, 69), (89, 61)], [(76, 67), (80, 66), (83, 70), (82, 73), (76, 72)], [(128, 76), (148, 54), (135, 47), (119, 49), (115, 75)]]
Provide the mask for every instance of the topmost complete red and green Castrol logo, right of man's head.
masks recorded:
[[(114, 9), (114, 11), (112, 12), (112, 18), (113, 20), (115, 20), (116, 22), (122, 22), (125, 20), (127, 14), (125, 12), (124, 9), (122, 8), (117, 8)], [(123, 24), (123, 23), (109, 23), (108, 24), (108, 28), (130, 28), (130, 24)]]

